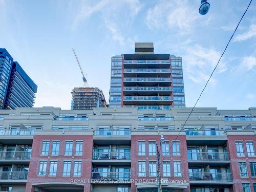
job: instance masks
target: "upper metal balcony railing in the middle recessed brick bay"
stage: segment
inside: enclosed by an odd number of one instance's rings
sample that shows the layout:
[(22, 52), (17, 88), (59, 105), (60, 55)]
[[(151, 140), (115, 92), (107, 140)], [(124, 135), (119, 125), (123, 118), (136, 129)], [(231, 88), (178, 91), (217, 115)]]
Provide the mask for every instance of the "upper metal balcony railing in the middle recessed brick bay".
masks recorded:
[(93, 152), (93, 160), (131, 160), (131, 152)]

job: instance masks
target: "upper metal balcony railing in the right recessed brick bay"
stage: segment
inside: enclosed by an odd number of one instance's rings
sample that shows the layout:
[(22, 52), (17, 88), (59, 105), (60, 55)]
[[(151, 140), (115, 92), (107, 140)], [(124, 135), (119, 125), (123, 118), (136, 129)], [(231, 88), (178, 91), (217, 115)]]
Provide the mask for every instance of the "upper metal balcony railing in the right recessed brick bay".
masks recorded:
[(229, 161), (229, 153), (193, 153), (187, 152), (188, 160), (198, 161)]

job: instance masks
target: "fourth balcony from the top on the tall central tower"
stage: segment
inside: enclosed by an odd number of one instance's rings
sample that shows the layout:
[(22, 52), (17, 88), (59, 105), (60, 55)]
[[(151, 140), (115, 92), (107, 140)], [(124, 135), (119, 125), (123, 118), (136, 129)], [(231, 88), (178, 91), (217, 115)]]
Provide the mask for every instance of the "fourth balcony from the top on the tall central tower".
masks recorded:
[(172, 95), (172, 87), (124, 87), (124, 95)]

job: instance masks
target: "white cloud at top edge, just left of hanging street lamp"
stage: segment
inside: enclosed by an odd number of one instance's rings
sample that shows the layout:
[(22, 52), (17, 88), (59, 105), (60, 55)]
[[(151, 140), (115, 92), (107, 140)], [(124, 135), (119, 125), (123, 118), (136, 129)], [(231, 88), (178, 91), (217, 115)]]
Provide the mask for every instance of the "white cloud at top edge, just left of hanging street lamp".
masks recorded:
[(198, 12), (189, 1), (162, 1), (147, 11), (146, 24), (150, 29), (169, 27), (187, 33), (198, 18)]

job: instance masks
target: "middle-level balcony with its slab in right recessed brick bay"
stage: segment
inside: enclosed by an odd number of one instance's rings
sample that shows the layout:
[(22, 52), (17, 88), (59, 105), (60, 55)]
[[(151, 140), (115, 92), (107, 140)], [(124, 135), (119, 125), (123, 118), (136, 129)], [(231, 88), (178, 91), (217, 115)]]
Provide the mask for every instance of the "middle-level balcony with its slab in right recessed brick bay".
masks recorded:
[(188, 163), (193, 165), (226, 165), (230, 163), (229, 153), (187, 152)]

